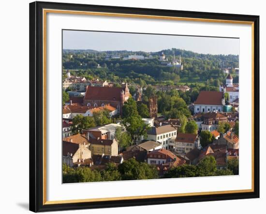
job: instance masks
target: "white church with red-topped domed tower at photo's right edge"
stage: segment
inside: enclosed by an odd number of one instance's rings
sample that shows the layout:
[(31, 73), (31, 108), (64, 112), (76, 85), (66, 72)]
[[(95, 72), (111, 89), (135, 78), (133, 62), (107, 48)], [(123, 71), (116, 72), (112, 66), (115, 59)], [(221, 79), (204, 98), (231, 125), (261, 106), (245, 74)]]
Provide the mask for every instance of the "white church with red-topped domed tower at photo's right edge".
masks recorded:
[(225, 86), (220, 86), (220, 92), (228, 93), (230, 103), (239, 98), (239, 85), (233, 84), (231, 74), (226, 77)]

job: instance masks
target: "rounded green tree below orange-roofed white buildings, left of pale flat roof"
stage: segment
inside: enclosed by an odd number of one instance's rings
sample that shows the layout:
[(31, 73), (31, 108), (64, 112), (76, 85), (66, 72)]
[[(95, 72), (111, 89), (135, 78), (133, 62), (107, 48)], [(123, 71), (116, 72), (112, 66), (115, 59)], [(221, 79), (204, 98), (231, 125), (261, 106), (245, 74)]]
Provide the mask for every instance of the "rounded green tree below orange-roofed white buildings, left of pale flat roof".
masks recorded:
[(72, 121), (72, 133), (81, 133), (83, 129), (89, 129), (95, 126), (93, 117), (85, 117), (82, 115), (77, 115)]

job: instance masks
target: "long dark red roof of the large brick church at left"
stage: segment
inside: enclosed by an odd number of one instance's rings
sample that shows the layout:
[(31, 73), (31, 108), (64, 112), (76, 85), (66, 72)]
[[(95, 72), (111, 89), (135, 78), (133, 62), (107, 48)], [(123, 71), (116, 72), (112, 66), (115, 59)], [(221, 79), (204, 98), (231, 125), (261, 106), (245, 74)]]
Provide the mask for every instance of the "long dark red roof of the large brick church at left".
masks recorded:
[(120, 93), (124, 88), (87, 86), (85, 100), (116, 100), (120, 101)]

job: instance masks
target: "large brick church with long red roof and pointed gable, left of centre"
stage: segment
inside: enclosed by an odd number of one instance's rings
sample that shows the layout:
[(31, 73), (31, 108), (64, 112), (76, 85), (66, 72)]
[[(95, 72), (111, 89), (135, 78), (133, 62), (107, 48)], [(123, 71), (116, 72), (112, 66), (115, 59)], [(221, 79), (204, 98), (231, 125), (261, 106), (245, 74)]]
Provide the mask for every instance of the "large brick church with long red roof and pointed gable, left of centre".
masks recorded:
[(127, 83), (123, 88), (87, 86), (83, 105), (88, 107), (103, 107), (104, 105), (110, 104), (122, 114), (122, 107), (127, 102), (129, 96), (130, 93)]

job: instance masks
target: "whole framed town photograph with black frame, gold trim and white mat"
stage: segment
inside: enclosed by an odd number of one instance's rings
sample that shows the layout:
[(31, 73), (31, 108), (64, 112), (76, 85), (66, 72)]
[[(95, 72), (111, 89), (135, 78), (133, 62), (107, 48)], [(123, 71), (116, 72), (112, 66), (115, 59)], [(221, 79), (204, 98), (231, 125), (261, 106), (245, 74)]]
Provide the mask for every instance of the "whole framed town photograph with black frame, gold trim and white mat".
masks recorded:
[(30, 210), (259, 197), (259, 16), (30, 3)]

